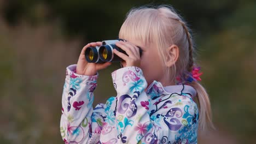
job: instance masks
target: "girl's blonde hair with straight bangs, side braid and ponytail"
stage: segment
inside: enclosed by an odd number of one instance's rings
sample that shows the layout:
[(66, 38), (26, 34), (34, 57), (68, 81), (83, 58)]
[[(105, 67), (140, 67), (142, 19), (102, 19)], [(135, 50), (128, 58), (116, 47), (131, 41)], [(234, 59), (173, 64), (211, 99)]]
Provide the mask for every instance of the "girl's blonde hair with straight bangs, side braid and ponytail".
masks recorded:
[[(141, 40), (146, 47), (154, 44), (163, 66), (166, 63), (166, 57), (171, 58), (166, 48), (173, 44), (177, 45), (179, 57), (176, 63), (170, 68), (165, 66), (167, 77), (172, 77), (172, 80), (179, 75), (189, 73), (195, 65), (190, 30), (171, 5), (143, 5), (132, 8), (120, 28), (119, 38)], [(197, 81), (193, 81), (190, 85), (196, 89), (200, 105), (199, 129), (214, 128), (210, 99), (206, 89)]]

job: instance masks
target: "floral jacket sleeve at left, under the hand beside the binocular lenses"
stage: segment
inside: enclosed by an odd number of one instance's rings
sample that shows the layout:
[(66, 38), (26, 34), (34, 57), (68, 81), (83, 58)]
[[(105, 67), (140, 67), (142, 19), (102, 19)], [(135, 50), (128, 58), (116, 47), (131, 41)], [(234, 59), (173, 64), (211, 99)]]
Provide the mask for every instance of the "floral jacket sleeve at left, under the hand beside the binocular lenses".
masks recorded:
[(75, 73), (76, 64), (66, 69), (62, 92), (60, 132), (65, 143), (96, 143), (104, 122), (104, 104), (92, 109), (98, 73), (94, 76)]

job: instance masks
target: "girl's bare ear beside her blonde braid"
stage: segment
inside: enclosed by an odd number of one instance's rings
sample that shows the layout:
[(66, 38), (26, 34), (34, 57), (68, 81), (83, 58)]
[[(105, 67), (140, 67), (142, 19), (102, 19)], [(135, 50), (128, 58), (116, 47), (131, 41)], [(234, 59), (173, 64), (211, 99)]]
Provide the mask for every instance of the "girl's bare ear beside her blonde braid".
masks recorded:
[(177, 45), (171, 45), (167, 48), (167, 59), (166, 66), (171, 67), (174, 63), (176, 63), (179, 57), (179, 47)]

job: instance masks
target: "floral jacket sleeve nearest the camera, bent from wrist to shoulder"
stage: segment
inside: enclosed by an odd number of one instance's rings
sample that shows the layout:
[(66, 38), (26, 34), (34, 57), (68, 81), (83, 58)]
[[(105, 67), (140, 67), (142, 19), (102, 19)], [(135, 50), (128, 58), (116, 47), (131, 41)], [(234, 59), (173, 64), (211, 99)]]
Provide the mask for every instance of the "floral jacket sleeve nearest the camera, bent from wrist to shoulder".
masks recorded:
[(117, 91), (120, 143), (196, 143), (197, 125), (193, 118), (197, 108), (188, 96), (173, 95), (173, 101), (156, 101), (158, 107), (149, 112), (149, 107), (155, 105), (150, 104), (144, 92), (147, 82), (140, 68), (115, 70), (112, 79)]

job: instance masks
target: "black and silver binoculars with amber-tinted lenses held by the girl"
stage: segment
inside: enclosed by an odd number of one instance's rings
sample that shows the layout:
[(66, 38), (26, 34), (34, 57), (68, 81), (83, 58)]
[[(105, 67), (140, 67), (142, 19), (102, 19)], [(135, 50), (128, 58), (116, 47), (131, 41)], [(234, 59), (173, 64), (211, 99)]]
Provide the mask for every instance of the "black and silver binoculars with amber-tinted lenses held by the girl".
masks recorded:
[[(102, 46), (87, 47), (87, 49), (85, 50), (86, 61), (88, 61), (89, 63), (105, 63), (105, 62), (124, 61), (122, 58), (115, 55), (115, 53), (113, 52), (113, 50), (116, 49), (119, 52), (122, 52), (125, 55), (127, 55), (127, 53), (124, 50), (122, 50), (120, 47), (115, 45), (115, 43), (120, 40), (126, 41), (124, 39), (104, 40), (104, 41), (102, 41)], [(137, 47), (139, 48), (139, 56), (141, 56), (142, 49), (139, 46), (137, 46)]]

